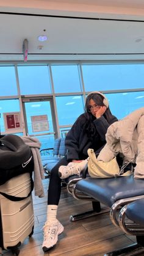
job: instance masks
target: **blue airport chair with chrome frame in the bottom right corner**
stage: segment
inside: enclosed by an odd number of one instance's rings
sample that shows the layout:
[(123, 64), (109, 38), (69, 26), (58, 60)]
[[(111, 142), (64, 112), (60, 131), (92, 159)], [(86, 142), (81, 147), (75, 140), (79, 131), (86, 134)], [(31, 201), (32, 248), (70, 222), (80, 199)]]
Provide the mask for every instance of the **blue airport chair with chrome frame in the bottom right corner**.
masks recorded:
[(144, 199), (124, 205), (118, 216), (119, 227), (128, 235), (136, 236), (137, 243), (108, 252), (105, 256), (144, 254)]

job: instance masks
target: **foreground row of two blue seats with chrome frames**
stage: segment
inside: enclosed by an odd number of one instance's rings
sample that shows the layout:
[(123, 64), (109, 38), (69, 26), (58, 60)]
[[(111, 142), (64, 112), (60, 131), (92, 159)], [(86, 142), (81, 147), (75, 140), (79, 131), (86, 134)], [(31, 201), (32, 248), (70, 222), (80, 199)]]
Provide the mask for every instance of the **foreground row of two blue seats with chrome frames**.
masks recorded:
[[(70, 191), (78, 200), (91, 200), (92, 214), (110, 211), (114, 225), (125, 233), (136, 235), (137, 243), (105, 255), (139, 255), (144, 252), (144, 182), (133, 175), (119, 178), (79, 179)], [(101, 203), (106, 207), (101, 210)], [(71, 216), (71, 221), (90, 216)], [(132, 253), (132, 254), (131, 254)]]

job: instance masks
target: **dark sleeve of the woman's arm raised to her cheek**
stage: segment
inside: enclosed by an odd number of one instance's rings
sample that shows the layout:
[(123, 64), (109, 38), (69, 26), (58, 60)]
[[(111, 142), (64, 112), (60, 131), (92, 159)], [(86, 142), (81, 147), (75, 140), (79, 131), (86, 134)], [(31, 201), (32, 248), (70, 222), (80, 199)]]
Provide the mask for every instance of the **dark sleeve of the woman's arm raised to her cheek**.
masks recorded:
[(115, 117), (114, 115), (112, 115), (112, 119), (110, 120), (110, 122), (108, 123), (107, 120), (104, 118), (104, 116), (102, 115), (101, 117), (99, 117), (98, 119), (94, 120), (94, 124), (96, 126), (96, 130), (99, 133), (99, 136), (101, 137), (101, 141), (106, 141), (106, 133), (107, 133), (107, 128), (112, 125), (112, 123), (117, 122), (117, 117)]

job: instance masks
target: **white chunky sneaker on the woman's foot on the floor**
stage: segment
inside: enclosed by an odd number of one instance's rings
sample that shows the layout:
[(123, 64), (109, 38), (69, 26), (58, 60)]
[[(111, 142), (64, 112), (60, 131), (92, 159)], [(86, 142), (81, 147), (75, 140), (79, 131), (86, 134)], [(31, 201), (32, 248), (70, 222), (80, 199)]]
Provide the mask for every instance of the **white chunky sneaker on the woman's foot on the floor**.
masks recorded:
[(44, 238), (42, 248), (44, 252), (47, 252), (51, 247), (53, 247), (58, 240), (58, 235), (60, 235), (64, 230), (63, 225), (56, 219), (54, 222), (47, 221), (43, 227)]

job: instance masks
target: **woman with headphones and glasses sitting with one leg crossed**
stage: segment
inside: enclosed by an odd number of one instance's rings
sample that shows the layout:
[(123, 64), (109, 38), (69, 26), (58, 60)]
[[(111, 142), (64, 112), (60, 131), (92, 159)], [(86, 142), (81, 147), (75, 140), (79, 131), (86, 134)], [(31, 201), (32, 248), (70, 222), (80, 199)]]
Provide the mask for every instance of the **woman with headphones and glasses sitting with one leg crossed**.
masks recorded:
[[(64, 229), (63, 225), (57, 220), (61, 178), (79, 174), (84, 169), (88, 157), (88, 148), (93, 148), (96, 154), (99, 153), (106, 144), (107, 128), (116, 121), (117, 118), (110, 112), (107, 98), (100, 92), (89, 93), (85, 102), (85, 113), (77, 118), (65, 139), (66, 156), (51, 170), (48, 189), (48, 210), (42, 245), (44, 252), (57, 243), (58, 235)], [(72, 166), (70, 164), (67, 169), (59, 172), (60, 166), (67, 166), (70, 162), (72, 162)]]

